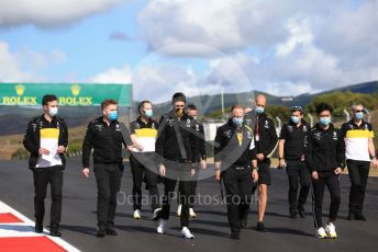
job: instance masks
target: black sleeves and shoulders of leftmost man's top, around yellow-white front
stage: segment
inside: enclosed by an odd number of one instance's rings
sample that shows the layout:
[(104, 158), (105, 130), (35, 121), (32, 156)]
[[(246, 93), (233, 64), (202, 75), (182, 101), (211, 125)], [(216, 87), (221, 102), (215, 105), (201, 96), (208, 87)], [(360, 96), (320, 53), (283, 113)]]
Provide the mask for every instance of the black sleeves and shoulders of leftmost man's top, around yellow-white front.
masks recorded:
[[(29, 168), (31, 170), (35, 169), (35, 165), (38, 161), (38, 150), (41, 148), (41, 137), (40, 137), (40, 129), (42, 128), (58, 128), (59, 129), (59, 139), (58, 139), (58, 146), (64, 146), (67, 148), (68, 146), (68, 129), (66, 122), (55, 116), (51, 123), (46, 121), (44, 115), (41, 115), (38, 117), (33, 118), (27, 124), (27, 129), (24, 135), (23, 145), (25, 149), (30, 152), (30, 159), (29, 159)], [(66, 158), (64, 153), (60, 153), (60, 159), (63, 167), (66, 165)]]

